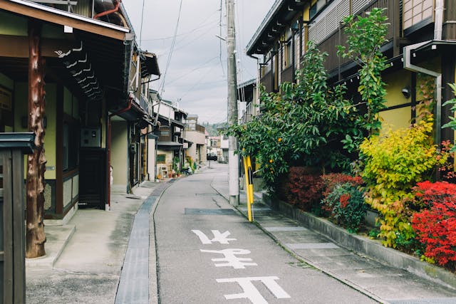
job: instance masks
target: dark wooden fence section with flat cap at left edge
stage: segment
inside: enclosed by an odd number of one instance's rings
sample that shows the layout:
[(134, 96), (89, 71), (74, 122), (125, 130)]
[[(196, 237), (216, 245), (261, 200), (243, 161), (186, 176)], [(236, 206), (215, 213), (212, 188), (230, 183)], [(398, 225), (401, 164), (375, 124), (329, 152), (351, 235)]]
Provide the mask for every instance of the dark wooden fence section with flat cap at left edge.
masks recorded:
[(26, 302), (24, 154), (33, 132), (0, 133), (0, 302)]

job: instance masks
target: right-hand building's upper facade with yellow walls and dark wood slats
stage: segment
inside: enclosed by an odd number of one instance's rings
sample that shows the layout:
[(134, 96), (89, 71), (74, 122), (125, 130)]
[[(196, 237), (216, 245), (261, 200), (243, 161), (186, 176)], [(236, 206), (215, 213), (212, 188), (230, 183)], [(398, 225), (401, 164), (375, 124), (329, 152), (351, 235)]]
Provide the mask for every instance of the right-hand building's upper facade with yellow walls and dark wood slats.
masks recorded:
[(388, 42), (381, 51), (388, 58), (383, 72), (386, 108), (380, 113), (390, 127), (407, 127), (416, 117), (420, 85), (435, 81), (435, 142), (453, 140), (453, 132), (441, 129), (451, 115), (442, 103), (453, 97), (447, 83), (455, 82), (456, 3), (451, 0), (277, 0), (247, 46), (257, 58), (259, 83), (267, 92), (280, 84), (296, 82), (307, 43), (314, 41), (328, 53), (328, 83), (345, 83), (351, 98), (359, 98), (358, 67), (337, 56), (336, 46), (346, 45), (341, 21), (349, 14), (365, 16), (373, 7), (388, 16)]

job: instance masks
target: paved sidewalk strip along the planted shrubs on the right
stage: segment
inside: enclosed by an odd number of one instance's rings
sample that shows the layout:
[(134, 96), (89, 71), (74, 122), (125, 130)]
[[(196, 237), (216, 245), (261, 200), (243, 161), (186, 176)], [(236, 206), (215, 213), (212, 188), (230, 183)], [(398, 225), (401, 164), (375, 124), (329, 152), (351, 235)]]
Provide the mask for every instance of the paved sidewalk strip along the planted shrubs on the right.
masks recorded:
[[(228, 199), (227, 180), (226, 175), (212, 182), (212, 187), (225, 199)], [(240, 202), (237, 209), (247, 217), (247, 196), (244, 192), (240, 194)], [(380, 303), (456, 303), (456, 289), (452, 286), (440, 285), (404, 269), (381, 263), (376, 258), (356, 253), (353, 248), (330, 239), (328, 225), (314, 225), (314, 229), (318, 227), (321, 231), (312, 230), (269, 208), (264, 204), (261, 193), (255, 193), (253, 212), (255, 224), (284, 250)], [(344, 231), (338, 229), (337, 232), (348, 234)], [(390, 251), (393, 253), (388, 258), (391, 259), (403, 255)]]

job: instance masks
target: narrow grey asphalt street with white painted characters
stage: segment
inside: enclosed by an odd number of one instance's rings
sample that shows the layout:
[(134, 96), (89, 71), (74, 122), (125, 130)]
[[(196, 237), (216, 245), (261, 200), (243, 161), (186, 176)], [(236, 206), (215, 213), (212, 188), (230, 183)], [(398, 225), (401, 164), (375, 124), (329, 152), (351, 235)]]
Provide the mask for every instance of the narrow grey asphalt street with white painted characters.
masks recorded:
[(173, 183), (155, 210), (159, 303), (375, 303), (291, 256), (212, 187), (226, 165)]

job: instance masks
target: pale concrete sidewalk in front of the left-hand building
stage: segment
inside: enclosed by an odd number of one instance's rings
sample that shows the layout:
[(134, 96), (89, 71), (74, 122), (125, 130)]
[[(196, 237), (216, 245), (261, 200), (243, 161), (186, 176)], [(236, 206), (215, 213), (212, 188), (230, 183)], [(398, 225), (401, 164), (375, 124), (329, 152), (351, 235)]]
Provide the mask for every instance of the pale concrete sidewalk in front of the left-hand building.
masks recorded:
[(46, 226), (46, 256), (26, 260), (27, 303), (114, 303), (135, 215), (164, 184), (111, 192), (110, 211), (79, 209), (68, 224)]

